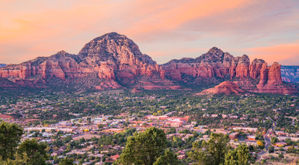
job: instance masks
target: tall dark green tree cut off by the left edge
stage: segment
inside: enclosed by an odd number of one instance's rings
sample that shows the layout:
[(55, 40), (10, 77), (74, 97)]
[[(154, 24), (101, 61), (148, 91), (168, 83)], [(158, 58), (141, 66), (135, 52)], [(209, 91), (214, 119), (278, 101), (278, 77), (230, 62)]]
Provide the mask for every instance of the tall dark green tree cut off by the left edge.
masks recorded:
[(13, 159), (21, 136), (23, 128), (18, 124), (1, 122), (0, 124), (0, 156), (3, 160)]

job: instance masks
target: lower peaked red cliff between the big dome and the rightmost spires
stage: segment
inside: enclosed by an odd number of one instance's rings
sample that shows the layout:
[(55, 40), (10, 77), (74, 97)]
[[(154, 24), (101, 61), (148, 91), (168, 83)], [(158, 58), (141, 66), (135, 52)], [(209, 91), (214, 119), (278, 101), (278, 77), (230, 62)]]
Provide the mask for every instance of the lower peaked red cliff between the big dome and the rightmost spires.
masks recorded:
[[(246, 78), (249, 75), (250, 59), (247, 55), (234, 57), (224, 53), (217, 47), (212, 47), (206, 54), (197, 58), (182, 58), (164, 65), (166, 78), (183, 80), (186, 75), (193, 78)], [(254, 69), (254, 68), (251, 68)]]

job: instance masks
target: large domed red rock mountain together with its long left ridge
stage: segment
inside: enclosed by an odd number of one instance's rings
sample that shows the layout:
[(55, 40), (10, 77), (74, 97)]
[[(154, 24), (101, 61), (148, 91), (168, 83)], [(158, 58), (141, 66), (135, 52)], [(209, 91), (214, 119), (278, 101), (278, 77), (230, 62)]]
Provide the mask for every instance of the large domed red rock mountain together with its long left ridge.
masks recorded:
[(24, 87), (39, 88), (49, 86), (55, 78), (63, 80), (63, 83), (80, 82), (80, 85), (86, 84), (96, 89), (126, 86), (145, 89), (179, 88), (164, 78), (162, 67), (150, 56), (142, 54), (131, 39), (115, 32), (93, 39), (78, 55), (60, 51), (53, 56), (8, 65), (0, 69), (0, 77)]

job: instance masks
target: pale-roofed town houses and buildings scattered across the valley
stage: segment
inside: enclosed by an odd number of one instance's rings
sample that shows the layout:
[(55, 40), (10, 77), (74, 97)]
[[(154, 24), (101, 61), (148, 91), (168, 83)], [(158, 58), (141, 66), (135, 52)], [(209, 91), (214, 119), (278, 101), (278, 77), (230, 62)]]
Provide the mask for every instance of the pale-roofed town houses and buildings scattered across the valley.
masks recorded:
[[(118, 98), (115, 97), (116, 100), (124, 100), (126, 98)], [(134, 98), (136, 100), (142, 100), (141, 98)], [(154, 96), (148, 96), (148, 98), (144, 98), (147, 100), (157, 100)], [(165, 99), (165, 98), (159, 98)], [(72, 113), (69, 112), (69, 115), (73, 115), (76, 118), (67, 121), (61, 121), (55, 124), (38, 124), (36, 126), (27, 126), (28, 123), (41, 121), (38, 119), (40, 117), (38, 113), (30, 114), (28, 116), (28, 112), (30, 109), (34, 109), (36, 111), (47, 111), (54, 109), (49, 104), (55, 102), (49, 100), (37, 100), (35, 102), (16, 102), (16, 104), (10, 105), (1, 105), (1, 109), (7, 110), (5, 114), (0, 114), (0, 119), (8, 122), (16, 122), (17, 124), (21, 124), (24, 128), (25, 135), (23, 135), (22, 140), (37, 138), (40, 142), (47, 142), (50, 145), (56, 140), (54, 136), (57, 133), (63, 132), (63, 135), (60, 136), (62, 140), (64, 137), (71, 136), (73, 140), (80, 140), (84, 138), (85, 140), (90, 139), (91, 137), (101, 137), (102, 135), (113, 135), (115, 133), (124, 132), (126, 129), (136, 129), (137, 131), (144, 131), (146, 128), (151, 126), (156, 126), (161, 129), (164, 129), (165, 132), (170, 129), (170, 127), (174, 127), (177, 130), (177, 133), (170, 133), (167, 135), (169, 139), (172, 139), (174, 136), (181, 138), (181, 140), (185, 141), (188, 137), (192, 137), (192, 133), (178, 133), (179, 131), (183, 131), (188, 129), (190, 132), (196, 131), (201, 135), (199, 140), (208, 140), (208, 135), (203, 135), (208, 131), (208, 126), (205, 125), (197, 125), (197, 122), (188, 122), (189, 116), (184, 118), (181, 117), (170, 117), (174, 112), (170, 112), (166, 115), (146, 115), (144, 118), (137, 118), (136, 115), (130, 116), (128, 113), (121, 113), (120, 115), (95, 115), (89, 117), (82, 117), (83, 113)], [(42, 104), (42, 107), (36, 107), (36, 104)], [(69, 104), (71, 106), (71, 104)], [(19, 109), (27, 109), (19, 111)], [(63, 107), (65, 111), (69, 107)], [(166, 109), (166, 107), (160, 107), (161, 109)], [(87, 111), (89, 108), (85, 109)], [(126, 107), (123, 107), (125, 110)], [(207, 109), (201, 109), (202, 111), (206, 111)], [(279, 110), (276, 110), (279, 112)], [(12, 114), (22, 115), (21, 119), (14, 119)], [(248, 115), (235, 115), (235, 114), (203, 114), (204, 118), (223, 118), (223, 119), (240, 119), (246, 120)], [(58, 118), (58, 115), (52, 115), (52, 118)], [(254, 122), (258, 121), (258, 118), (253, 119)], [(236, 125), (236, 124), (235, 124)], [(232, 146), (236, 146), (240, 143), (246, 143), (247, 145), (257, 146), (256, 140), (256, 132), (257, 128), (240, 126), (242, 124), (238, 124), (238, 126), (231, 126), (228, 129), (214, 129), (210, 130), (214, 133), (223, 133), (228, 134), (230, 137), (230, 144)], [(244, 124), (243, 124), (244, 125)], [(36, 132), (40, 135), (36, 136)], [(241, 132), (246, 134), (245, 138), (240, 138)], [(285, 133), (284, 131), (275, 131), (275, 134), (271, 136), (275, 136), (278, 138), (279, 142), (273, 144), (275, 148), (278, 150), (280, 147), (287, 147), (287, 143), (285, 143), (286, 138), (290, 138), (292, 141), (299, 140), (298, 133)], [(95, 164), (103, 164), (104, 162), (114, 162), (120, 156), (120, 153), (123, 149), (121, 146), (102, 146), (104, 150), (97, 151), (95, 149), (95, 145), (92, 142), (83, 142), (80, 144), (82, 148), (74, 149), (71, 151), (67, 150), (66, 146), (61, 146), (60, 148), (56, 148), (51, 153), (52, 157), (63, 158), (65, 155), (82, 155), (87, 153), (89, 159), (93, 159), (92, 157), (98, 157), (100, 159), (99, 162), (94, 162)], [(179, 159), (186, 158), (186, 151), (181, 150), (177, 151), (177, 157)], [(104, 159), (105, 157), (105, 159)], [(104, 159), (104, 161), (103, 161)], [(83, 164), (91, 164), (93, 161), (84, 162)], [(79, 164), (79, 162), (75, 162)]]

